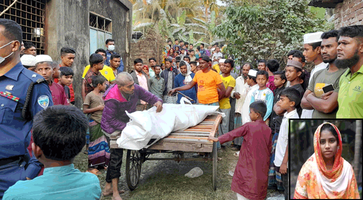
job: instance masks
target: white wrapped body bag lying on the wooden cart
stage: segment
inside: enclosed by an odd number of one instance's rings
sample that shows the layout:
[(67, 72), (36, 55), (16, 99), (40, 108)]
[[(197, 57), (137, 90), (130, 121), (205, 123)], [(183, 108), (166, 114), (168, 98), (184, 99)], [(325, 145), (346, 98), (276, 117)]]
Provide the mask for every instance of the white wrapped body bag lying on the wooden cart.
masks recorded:
[(219, 106), (192, 105), (185, 97), (181, 104), (163, 104), (163, 110), (156, 112), (156, 107), (149, 110), (127, 113), (130, 122), (122, 130), (117, 144), (120, 148), (140, 150), (147, 148), (170, 132), (184, 130), (194, 126), (215, 112)]

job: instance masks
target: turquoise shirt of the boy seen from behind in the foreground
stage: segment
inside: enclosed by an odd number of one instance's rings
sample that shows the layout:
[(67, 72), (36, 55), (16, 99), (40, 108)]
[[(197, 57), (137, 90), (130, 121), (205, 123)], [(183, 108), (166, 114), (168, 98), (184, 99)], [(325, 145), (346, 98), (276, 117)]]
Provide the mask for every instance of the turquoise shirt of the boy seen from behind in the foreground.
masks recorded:
[(74, 164), (48, 167), (33, 180), (19, 180), (3, 200), (20, 199), (100, 199), (100, 181), (95, 174), (81, 172)]

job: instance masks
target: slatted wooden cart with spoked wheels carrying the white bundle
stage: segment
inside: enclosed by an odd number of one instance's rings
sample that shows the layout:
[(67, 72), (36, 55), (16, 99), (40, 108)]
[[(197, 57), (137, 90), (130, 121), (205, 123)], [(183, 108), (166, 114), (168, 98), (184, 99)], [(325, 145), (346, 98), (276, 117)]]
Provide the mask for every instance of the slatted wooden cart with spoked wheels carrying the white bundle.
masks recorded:
[[(212, 186), (216, 190), (217, 176), (217, 144), (208, 141), (209, 135), (216, 136), (218, 125), (222, 119), (221, 114), (207, 116), (199, 124), (189, 127), (185, 130), (178, 130), (170, 133), (168, 136), (160, 139), (158, 142), (148, 148), (141, 150), (127, 150), (126, 154), (126, 182), (130, 190), (134, 190), (139, 182), (141, 165), (146, 160), (210, 160), (213, 162)], [(111, 148), (119, 148), (116, 140), (120, 135), (111, 135)], [(208, 152), (212, 157), (184, 158), (185, 152)], [(175, 158), (149, 158), (153, 153), (177, 153)]]

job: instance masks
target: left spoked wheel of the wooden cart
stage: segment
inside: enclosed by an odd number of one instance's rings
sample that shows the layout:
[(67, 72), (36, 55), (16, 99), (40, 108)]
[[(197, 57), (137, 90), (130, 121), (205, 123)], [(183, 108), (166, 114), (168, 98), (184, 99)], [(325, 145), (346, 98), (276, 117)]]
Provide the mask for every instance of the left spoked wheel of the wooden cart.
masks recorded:
[(126, 182), (130, 190), (136, 188), (141, 173), (142, 158), (138, 150), (127, 150), (126, 155)]

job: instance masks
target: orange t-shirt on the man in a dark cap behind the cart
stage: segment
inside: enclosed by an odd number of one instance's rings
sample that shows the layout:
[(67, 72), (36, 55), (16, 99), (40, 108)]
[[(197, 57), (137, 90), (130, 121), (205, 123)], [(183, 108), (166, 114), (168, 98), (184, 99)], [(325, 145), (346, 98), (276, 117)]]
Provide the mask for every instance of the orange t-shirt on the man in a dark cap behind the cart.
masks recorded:
[(195, 73), (193, 81), (198, 84), (198, 100), (200, 103), (218, 102), (217, 85), (222, 83), (222, 78), (217, 72), (209, 70), (204, 73), (199, 70)]

